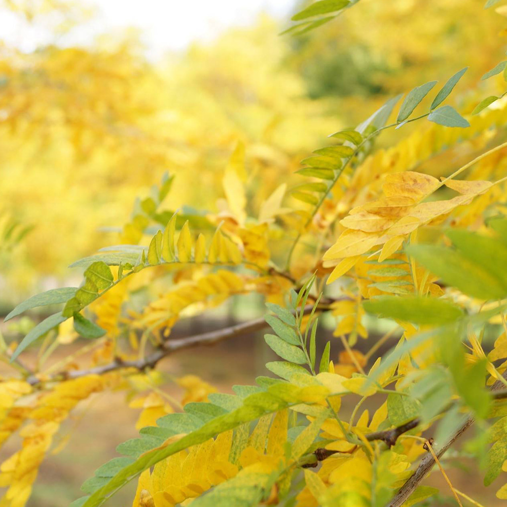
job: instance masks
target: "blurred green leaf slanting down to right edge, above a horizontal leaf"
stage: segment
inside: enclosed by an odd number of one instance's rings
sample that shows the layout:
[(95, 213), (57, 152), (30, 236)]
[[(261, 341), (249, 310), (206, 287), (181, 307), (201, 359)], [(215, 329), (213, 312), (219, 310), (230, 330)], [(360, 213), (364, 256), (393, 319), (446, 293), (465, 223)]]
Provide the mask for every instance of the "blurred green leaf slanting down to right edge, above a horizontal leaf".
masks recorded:
[(507, 290), (483, 263), (467, 259), (462, 253), (442, 246), (410, 245), (408, 254), (445, 283), (479, 299), (502, 299)]

